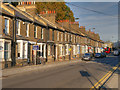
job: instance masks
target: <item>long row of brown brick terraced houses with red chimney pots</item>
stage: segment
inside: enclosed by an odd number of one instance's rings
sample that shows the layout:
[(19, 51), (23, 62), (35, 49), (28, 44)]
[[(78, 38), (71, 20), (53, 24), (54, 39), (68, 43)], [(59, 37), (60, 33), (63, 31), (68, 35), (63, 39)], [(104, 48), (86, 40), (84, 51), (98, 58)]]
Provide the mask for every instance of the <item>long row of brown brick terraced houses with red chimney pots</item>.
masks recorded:
[(0, 59), (2, 68), (74, 60), (87, 52), (100, 52), (98, 34), (86, 31), (79, 22), (56, 22), (55, 11), (36, 14), (35, 2), (19, 2), (17, 7), (2, 3), (0, 17)]

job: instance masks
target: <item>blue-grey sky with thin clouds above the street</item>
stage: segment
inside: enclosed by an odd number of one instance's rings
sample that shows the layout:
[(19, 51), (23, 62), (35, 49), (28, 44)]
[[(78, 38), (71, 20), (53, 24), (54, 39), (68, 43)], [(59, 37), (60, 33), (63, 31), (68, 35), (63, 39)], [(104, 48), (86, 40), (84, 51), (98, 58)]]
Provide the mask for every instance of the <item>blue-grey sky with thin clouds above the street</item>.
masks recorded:
[[(91, 29), (99, 33), (103, 41), (118, 40), (117, 2), (68, 2), (66, 5), (73, 11), (74, 17), (79, 18), (76, 20), (79, 21), (79, 26), (85, 26), (86, 30)], [(102, 14), (90, 10), (102, 12)]]

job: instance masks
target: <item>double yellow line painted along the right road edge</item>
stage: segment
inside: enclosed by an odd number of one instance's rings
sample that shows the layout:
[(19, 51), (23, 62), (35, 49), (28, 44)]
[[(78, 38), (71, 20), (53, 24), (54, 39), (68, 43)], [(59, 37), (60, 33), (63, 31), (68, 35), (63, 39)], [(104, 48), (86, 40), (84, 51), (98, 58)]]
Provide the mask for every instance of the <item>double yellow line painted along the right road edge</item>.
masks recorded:
[(117, 64), (115, 67), (113, 67), (105, 76), (103, 76), (90, 90), (93, 89), (99, 89), (100, 86), (102, 86), (106, 80), (113, 74), (113, 72), (119, 67), (120, 63)]

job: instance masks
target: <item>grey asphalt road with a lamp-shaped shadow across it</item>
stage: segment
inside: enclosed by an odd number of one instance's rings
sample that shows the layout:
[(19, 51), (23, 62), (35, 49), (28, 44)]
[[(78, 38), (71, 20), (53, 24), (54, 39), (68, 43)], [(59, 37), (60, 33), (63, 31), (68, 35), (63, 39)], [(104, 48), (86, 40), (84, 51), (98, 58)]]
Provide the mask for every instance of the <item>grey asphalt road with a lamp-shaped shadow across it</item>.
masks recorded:
[[(109, 70), (118, 64), (118, 60), (118, 56), (108, 56), (106, 58), (97, 58), (92, 61), (66, 64), (52, 69), (47, 68), (45, 71), (37, 70), (13, 75), (2, 80), (2, 87), (91, 88), (106, 75)], [(115, 73), (119, 74), (117, 72)], [(113, 81), (115, 82), (114, 79), (109, 82)], [(104, 84), (102, 87), (110, 88), (109, 86), (110, 85)]]

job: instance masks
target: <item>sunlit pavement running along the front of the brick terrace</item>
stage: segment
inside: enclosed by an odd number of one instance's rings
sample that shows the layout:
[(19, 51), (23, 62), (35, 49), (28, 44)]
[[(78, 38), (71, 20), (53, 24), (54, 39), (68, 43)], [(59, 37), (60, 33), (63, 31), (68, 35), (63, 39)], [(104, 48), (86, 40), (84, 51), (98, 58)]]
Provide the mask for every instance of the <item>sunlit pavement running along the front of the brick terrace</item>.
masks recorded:
[[(24, 66), (24, 67), (13, 67), (13, 68), (8, 68), (8, 69), (3, 69), (1, 70), (2, 72), (2, 77), (8, 77), (11, 75), (16, 75), (24, 72), (30, 72), (30, 71), (35, 71), (35, 70), (48, 70), (53, 67), (61, 66), (61, 65), (66, 65), (70, 63), (75, 63), (75, 62), (80, 62), (81, 60), (71, 60), (71, 61), (62, 61), (62, 62), (51, 62), (45, 65), (30, 65), (30, 66)], [(0, 77), (0, 78), (2, 78)]]

